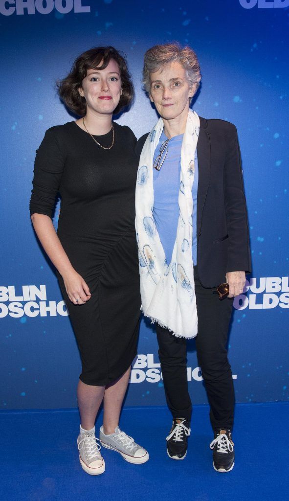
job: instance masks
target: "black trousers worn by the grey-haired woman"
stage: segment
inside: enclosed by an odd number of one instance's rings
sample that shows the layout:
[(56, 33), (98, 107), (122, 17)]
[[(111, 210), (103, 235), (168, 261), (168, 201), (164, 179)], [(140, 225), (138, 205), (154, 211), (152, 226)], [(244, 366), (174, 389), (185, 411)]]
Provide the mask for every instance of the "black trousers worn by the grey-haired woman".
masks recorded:
[[(214, 289), (201, 286), (194, 267), (195, 294), (198, 313), (196, 351), (210, 404), (213, 429), (232, 429), (234, 387), (227, 359), (227, 332), (232, 299), (219, 300)], [(173, 336), (156, 324), (164, 389), (173, 418), (191, 419), (192, 405), (188, 392), (186, 339)]]

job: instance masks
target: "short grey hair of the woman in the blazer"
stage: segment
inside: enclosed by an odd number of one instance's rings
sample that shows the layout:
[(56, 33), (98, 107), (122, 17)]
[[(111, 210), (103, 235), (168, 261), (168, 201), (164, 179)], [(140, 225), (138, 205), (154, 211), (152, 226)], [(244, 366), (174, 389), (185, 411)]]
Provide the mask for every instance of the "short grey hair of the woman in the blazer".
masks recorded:
[(186, 71), (187, 81), (190, 86), (196, 84), (196, 90), (200, 85), (200, 65), (195, 51), (190, 47), (181, 47), (178, 42), (172, 44), (155, 45), (144, 55), (143, 86), (150, 93), (150, 74), (160, 70), (168, 63), (177, 61)]

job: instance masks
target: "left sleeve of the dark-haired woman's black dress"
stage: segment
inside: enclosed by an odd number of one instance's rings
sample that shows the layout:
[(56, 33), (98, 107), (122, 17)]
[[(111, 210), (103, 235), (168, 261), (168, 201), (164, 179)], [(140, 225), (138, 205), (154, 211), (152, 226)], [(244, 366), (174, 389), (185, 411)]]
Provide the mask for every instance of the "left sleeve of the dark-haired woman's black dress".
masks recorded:
[(46, 214), (52, 217), (55, 200), (65, 165), (54, 128), (48, 129), (36, 150), (30, 214)]

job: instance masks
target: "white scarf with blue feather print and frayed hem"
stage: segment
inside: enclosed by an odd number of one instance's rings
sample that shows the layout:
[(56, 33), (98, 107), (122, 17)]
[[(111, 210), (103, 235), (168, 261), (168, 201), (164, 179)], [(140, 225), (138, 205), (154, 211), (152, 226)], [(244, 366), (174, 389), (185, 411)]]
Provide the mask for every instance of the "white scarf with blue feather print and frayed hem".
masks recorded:
[(160, 118), (146, 139), (137, 173), (135, 227), (142, 311), (175, 336), (192, 338), (197, 334), (198, 324), (192, 261), (192, 184), (200, 120), (189, 110), (181, 149), (180, 213), (169, 265), (153, 218), (153, 157), (163, 127)]

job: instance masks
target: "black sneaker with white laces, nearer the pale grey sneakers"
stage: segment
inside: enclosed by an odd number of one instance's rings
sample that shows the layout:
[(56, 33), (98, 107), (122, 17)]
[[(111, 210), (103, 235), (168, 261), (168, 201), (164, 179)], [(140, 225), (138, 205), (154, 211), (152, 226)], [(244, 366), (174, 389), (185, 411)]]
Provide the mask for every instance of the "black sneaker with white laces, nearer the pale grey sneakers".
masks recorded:
[(184, 459), (187, 454), (190, 423), (183, 417), (175, 418), (170, 434), (166, 437), (167, 453), (172, 459)]

